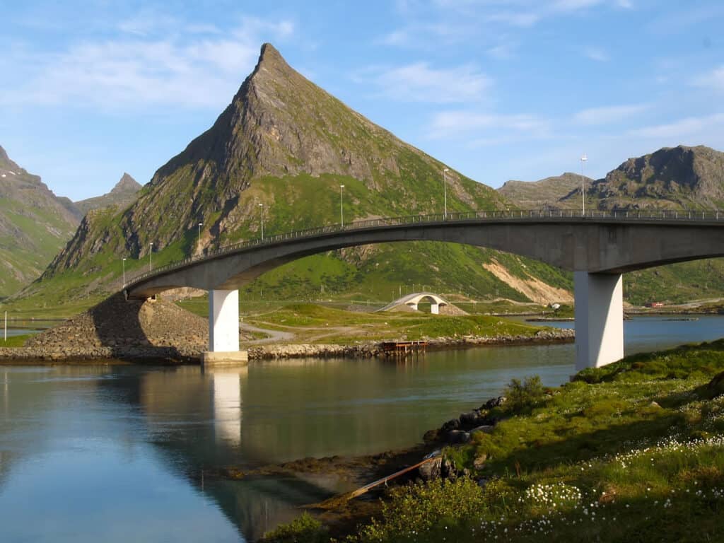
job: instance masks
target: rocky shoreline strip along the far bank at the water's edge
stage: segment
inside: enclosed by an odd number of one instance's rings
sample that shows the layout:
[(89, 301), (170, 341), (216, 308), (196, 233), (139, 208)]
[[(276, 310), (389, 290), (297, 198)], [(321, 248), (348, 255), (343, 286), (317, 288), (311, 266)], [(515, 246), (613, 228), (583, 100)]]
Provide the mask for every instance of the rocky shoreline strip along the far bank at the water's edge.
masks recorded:
[[(169, 345), (171, 338), (161, 338), (155, 345), (73, 345), (73, 337), (54, 334), (52, 341), (31, 340), (22, 348), (0, 348), (0, 363), (88, 363), (91, 361), (117, 363), (198, 364), (206, 346), (181, 343)], [(534, 336), (463, 336), (437, 337), (428, 340), (429, 350), (478, 347), (481, 345), (523, 345), (531, 343), (571, 342), (575, 332), (570, 329), (540, 330)], [(148, 343), (148, 341), (146, 341)], [(385, 357), (380, 343), (358, 345), (289, 344), (263, 345), (248, 349), (249, 360), (279, 360), (285, 358), (373, 358)]]

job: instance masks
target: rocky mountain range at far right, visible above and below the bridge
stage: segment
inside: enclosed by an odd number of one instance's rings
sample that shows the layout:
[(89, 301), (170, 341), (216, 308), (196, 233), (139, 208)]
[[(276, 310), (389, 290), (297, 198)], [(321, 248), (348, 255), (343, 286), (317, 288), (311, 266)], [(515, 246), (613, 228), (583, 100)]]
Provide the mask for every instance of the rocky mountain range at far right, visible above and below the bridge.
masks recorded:
[[(509, 181), (498, 189), (521, 208), (581, 209), (581, 177)], [(724, 153), (697, 146), (662, 148), (628, 159), (606, 177), (586, 179), (588, 209), (724, 209)], [(724, 260), (671, 264), (624, 278), (632, 303), (724, 297)]]

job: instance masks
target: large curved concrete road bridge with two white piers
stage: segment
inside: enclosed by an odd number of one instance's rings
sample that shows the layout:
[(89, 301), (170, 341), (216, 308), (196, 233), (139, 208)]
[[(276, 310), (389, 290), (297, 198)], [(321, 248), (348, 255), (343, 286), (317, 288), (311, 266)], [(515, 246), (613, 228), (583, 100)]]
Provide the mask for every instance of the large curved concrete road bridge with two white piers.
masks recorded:
[(373, 219), (230, 245), (140, 274), (124, 290), (127, 298), (177, 287), (209, 290), (206, 361), (238, 360), (245, 355), (239, 353), (239, 287), (316, 253), (421, 240), (498, 249), (573, 271), (576, 368), (582, 369), (623, 357), (622, 274), (724, 256), (724, 211), (471, 211)]

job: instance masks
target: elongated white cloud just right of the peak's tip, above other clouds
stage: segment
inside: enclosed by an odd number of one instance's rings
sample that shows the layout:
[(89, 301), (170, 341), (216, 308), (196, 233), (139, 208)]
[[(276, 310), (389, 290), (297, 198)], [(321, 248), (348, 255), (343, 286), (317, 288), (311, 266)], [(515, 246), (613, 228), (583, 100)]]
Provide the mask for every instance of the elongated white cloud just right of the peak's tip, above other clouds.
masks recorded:
[(353, 80), (374, 85), (387, 98), (438, 104), (479, 101), (492, 85), (492, 80), (474, 66), (437, 70), (426, 62), (372, 67), (353, 75)]

